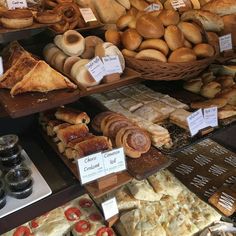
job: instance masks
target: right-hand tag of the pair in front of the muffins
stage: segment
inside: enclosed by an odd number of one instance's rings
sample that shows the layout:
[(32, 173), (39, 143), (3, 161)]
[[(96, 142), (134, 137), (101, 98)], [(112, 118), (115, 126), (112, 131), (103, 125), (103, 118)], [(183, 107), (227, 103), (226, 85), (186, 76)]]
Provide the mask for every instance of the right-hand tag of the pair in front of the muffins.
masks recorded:
[(103, 57), (102, 61), (105, 67), (106, 75), (122, 73), (120, 60), (117, 55)]

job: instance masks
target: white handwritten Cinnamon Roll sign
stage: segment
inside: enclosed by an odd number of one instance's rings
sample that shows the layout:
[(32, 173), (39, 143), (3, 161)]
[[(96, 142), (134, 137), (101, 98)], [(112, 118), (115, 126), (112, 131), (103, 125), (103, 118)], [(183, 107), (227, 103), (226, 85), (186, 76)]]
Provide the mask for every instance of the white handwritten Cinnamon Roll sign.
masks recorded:
[(106, 175), (126, 170), (125, 154), (123, 148), (113, 149), (102, 153)]

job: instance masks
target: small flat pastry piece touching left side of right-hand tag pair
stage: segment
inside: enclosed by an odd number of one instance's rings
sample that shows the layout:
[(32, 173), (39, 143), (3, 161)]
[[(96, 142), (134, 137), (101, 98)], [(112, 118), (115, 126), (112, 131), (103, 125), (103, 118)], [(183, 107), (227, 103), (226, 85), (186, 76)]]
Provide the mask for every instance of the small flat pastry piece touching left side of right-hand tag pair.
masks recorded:
[(191, 115), (191, 112), (184, 109), (176, 109), (170, 114), (170, 122), (188, 130), (187, 117)]

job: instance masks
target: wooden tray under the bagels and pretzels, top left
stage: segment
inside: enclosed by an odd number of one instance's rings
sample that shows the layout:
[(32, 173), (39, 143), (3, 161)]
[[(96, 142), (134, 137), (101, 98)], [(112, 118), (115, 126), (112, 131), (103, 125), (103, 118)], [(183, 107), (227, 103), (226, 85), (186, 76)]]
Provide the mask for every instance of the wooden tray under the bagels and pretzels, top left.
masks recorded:
[(7, 43), (13, 40), (29, 38), (45, 30), (51, 24), (33, 23), (30, 27), (23, 29), (0, 28), (0, 43)]

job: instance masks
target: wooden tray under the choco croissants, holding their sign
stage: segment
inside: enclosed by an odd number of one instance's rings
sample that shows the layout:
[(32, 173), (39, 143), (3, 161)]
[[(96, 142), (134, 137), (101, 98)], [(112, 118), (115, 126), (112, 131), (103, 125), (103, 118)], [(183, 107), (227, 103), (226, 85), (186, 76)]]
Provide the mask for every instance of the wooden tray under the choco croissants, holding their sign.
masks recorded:
[[(53, 150), (57, 153), (57, 155), (60, 157), (60, 159), (65, 163), (65, 165), (74, 174), (74, 176), (78, 180), (80, 180), (76, 164), (73, 163), (68, 158), (66, 158), (65, 156), (63, 156), (58, 151), (57, 145), (55, 144), (55, 142), (53, 142), (53, 140), (47, 134), (45, 134), (43, 131), (41, 131), (41, 133), (42, 133), (43, 138), (46, 140), (46, 142), (53, 148)], [(96, 182), (91, 182), (89, 184), (86, 184), (86, 185), (84, 185), (84, 187), (95, 198), (98, 198), (98, 197), (101, 197), (104, 194), (107, 194), (107, 193), (123, 186), (124, 184), (127, 184), (128, 182), (130, 182), (132, 180), (132, 177), (128, 174), (127, 171), (117, 173), (117, 178), (118, 178), (117, 184), (109, 186), (109, 187), (107, 187), (103, 190), (98, 190), (98, 188), (96, 188)]]

